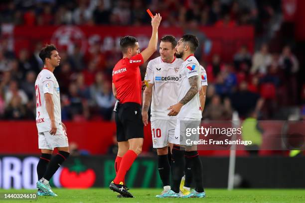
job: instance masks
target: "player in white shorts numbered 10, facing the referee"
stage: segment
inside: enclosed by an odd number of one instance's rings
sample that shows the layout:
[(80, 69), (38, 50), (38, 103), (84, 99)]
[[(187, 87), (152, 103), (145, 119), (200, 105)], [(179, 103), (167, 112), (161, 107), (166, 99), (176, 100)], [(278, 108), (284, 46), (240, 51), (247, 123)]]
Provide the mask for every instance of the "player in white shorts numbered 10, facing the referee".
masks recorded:
[[(168, 106), (177, 102), (179, 67), (183, 63), (174, 56), (176, 39), (166, 35), (160, 40), (160, 56), (148, 63), (145, 80), (149, 81), (143, 94), (142, 118), (148, 124), (148, 111), (151, 106), (152, 145), (157, 149), (158, 171), (163, 183), (163, 192), (170, 190), (170, 165), (167, 144), (177, 142), (174, 137), (176, 117), (168, 116)], [(174, 141), (177, 140), (177, 141)], [(178, 143), (178, 142), (177, 142)], [(158, 197), (158, 196), (157, 196)]]

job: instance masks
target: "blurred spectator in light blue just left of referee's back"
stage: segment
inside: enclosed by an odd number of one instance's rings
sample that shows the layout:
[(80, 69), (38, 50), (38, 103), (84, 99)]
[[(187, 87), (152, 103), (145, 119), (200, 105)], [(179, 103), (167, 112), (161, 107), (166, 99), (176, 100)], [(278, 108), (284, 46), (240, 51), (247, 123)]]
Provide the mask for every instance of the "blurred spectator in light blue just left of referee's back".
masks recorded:
[(116, 99), (113, 96), (112, 86), (109, 82), (105, 83), (102, 91), (95, 95), (95, 102), (100, 109), (102, 117), (105, 120), (110, 120)]

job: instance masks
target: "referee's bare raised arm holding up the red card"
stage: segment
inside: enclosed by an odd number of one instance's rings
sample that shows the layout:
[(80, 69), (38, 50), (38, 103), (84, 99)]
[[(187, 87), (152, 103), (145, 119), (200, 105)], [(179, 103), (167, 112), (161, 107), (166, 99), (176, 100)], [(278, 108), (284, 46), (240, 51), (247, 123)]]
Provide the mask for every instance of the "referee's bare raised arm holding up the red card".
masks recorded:
[(158, 27), (160, 25), (161, 19), (162, 17), (160, 16), (160, 13), (156, 14), (152, 18), (152, 37), (148, 47), (141, 52), (144, 62), (146, 62), (156, 51), (156, 46), (158, 43)]

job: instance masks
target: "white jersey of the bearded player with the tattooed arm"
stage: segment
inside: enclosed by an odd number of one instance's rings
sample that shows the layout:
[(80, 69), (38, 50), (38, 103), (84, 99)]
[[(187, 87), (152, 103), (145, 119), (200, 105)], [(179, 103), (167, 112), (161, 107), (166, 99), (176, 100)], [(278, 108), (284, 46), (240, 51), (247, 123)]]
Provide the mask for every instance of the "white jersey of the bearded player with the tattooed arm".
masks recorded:
[[(201, 87), (201, 70), (200, 65), (197, 59), (191, 55), (181, 64), (179, 68), (179, 95), (178, 101), (181, 101), (183, 97), (186, 95), (188, 90), (191, 88), (188, 79), (193, 76), (198, 77), (198, 88)], [(178, 113), (178, 118), (195, 118), (201, 119), (202, 114), (200, 110), (200, 100), (199, 100), (199, 92), (191, 99), (191, 101), (187, 102), (182, 106), (180, 112)]]

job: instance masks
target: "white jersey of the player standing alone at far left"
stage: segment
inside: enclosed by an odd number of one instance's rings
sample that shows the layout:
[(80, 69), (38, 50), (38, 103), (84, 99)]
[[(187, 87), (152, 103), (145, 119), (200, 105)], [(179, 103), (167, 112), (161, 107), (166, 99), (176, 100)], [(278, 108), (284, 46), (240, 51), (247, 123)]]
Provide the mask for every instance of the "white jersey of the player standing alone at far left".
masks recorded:
[(61, 109), (60, 109), (60, 96), (59, 85), (54, 74), (43, 69), (37, 76), (35, 82), (36, 92), (36, 125), (38, 132), (45, 132), (51, 130), (51, 121), (49, 114), (46, 110), (44, 94), (49, 93), (53, 95), (54, 103), (54, 117), (56, 127), (61, 127)]

